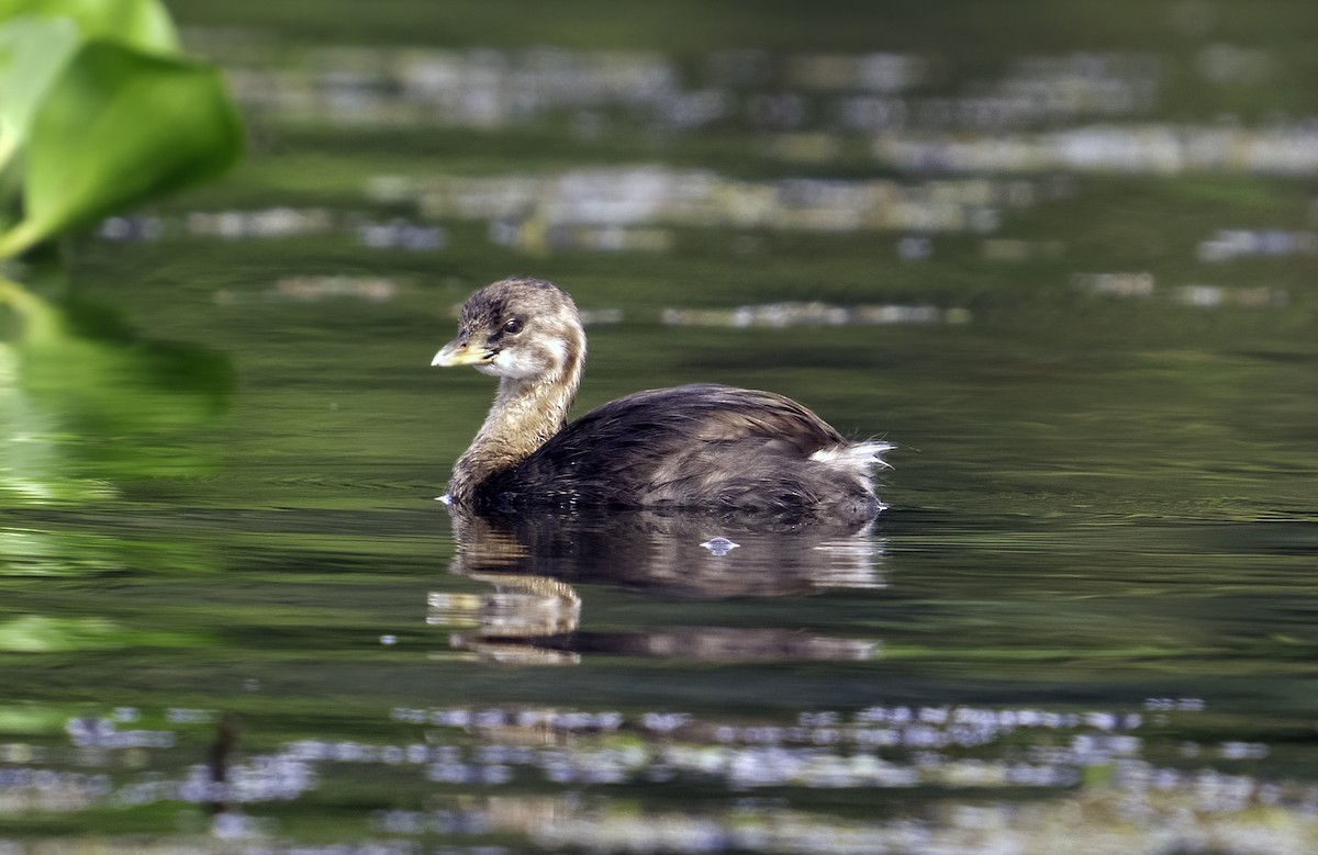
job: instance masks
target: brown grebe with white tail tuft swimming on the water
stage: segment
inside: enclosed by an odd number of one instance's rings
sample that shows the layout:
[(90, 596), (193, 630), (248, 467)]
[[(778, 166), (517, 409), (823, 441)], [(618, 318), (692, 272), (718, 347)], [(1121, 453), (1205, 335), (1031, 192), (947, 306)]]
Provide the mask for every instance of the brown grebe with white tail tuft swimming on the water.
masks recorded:
[(572, 298), (513, 278), (472, 294), (431, 365), (500, 378), (448, 501), (480, 510), (618, 506), (870, 519), (888, 443), (849, 443), (782, 395), (713, 383), (641, 391), (571, 424), (585, 362)]

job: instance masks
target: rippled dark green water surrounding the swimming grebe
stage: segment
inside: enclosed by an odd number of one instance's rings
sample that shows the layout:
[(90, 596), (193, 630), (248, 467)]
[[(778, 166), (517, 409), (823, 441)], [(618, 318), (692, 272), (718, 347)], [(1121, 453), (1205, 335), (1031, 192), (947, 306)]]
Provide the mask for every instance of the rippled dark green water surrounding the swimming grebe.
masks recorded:
[[(0, 848), (1318, 851), (1300, 13), (390, 53), (406, 9), (181, 4), (248, 163), (4, 353)], [(579, 411), (779, 391), (898, 445), (890, 509), (453, 519), (493, 386), (428, 362), (513, 271), (590, 320)]]

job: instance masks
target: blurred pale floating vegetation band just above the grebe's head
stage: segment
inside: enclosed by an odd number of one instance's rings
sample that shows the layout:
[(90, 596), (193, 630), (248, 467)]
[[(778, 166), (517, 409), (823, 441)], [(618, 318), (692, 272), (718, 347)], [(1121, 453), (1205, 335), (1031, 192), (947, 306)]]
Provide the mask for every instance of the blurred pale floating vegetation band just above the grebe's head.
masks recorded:
[[(414, 204), (427, 220), (481, 220), (500, 246), (542, 254), (565, 249), (655, 252), (675, 249), (676, 228), (804, 232), (917, 232), (929, 254), (936, 232), (994, 232), (1003, 208), (1040, 199), (1019, 179), (898, 182), (791, 178), (737, 180), (708, 170), (662, 166), (577, 169), (544, 175), (439, 175), (373, 178), (365, 188), (376, 206)], [(194, 211), (181, 217), (115, 216), (100, 237), (120, 242), (178, 237), (289, 238), (351, 233), (374, 249), (443, 250), (448, 231), (402, 217), (380, 221), (328, 208)], [(905, 245), (905, 244), (903, 244)]]

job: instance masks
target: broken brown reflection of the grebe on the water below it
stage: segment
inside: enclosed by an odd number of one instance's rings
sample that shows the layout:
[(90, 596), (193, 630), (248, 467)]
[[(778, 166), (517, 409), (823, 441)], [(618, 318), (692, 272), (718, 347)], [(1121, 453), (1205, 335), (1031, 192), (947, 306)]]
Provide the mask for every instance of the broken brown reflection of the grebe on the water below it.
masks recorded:
[(855, 660), (873, 657), (878, 647), (871, 640), (783, 628), (594, 632), (580, 628), (583, 599), (575, 588), (606, 585), (679, 599), (882, 588), (882, 540), (873, 523), (642, 510), (502, 515), (448, 507), (448, 512), (457, 543), (449, 569), (493, 590), (432, 592), (427, 623), (451, 627), (453, 648), (482, 660), (542, 665), (576, 664), (583, 655)]

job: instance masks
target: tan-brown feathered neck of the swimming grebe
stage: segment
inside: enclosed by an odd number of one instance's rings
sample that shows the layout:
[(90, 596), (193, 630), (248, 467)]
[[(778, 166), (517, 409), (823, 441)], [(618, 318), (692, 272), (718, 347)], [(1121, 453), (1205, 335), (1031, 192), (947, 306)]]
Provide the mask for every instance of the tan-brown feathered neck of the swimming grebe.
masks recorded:
[(481, 482), (513, 469), (561, 431), (580, 383), (580, 358), (547, 378), (500, 379), (485, 423), (453, 466), (453, 501), (471, 501)]

